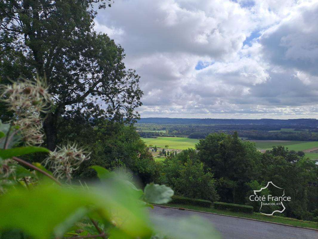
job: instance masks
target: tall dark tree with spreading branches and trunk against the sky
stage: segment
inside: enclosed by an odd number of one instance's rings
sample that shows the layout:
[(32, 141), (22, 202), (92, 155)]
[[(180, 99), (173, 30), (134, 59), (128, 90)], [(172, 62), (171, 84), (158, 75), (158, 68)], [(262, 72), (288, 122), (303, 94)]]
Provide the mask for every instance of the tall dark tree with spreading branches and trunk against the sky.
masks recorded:
[[(130, 121), (142, 103), (139, 76), (126, 69), (124, 51), (93, 29), (106, 0), (4, 0), (0, 2), (0, 77), (46, 79), (53, 103), (45, 119), (47, 147), (57, 143), (65, 111)], [(103, 108), (103, 110), (101, 109)]]

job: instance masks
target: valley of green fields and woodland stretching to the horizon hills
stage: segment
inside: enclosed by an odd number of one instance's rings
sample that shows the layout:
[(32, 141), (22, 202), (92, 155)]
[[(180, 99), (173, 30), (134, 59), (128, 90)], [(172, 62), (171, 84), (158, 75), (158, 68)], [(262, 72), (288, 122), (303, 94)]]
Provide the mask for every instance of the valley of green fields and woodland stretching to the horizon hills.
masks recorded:
[[(316, 138), (318, 129), (315, 126), (315, 120), (300, 119), (297, 124), (295, 121), (149, 118), (141, 119), (136, 124), (136, 128), (141, 139), (150, 148), (156, 146), (178, 150), (195, 149), (199, 139), (204, 138), (208, 133), (231, 134), (238, 131), (239, 137), (242, 136), (241, 140), (255, 143), (255, 147), (263, 153), (272, 149), (273, 146), (284, 146), (288, 150), (303, 151), (305, 157), (318, 160), (318, 139)], [(308, 127), (308, 122), (314, 124), (309, 124)], [(291, 126), (294, 128), (287, 128)], [(271, 139), (261, 139), (264, 137)], [(297, 140), (289, 140), (290, 138)], [(312, 141), (303, 139), (312, 139)]]

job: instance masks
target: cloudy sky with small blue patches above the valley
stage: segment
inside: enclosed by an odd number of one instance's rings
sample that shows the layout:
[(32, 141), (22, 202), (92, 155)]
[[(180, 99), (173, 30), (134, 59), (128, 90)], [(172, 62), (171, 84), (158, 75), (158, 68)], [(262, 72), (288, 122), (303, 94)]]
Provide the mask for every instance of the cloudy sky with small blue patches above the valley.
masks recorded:
[(318, 0), (115, 0), (141, 117), (318, 118)]

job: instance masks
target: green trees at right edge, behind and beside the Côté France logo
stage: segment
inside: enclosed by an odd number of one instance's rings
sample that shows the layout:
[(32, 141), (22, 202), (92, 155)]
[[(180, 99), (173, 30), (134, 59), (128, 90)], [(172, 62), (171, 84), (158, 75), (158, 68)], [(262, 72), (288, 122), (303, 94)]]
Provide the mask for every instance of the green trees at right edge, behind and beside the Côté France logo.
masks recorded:
[[(277, 148), (273, 148), (275, 152)], [(287, 155), (289, 151), (287, 150)], [(262, 169), (259, 171), (259, 182), (272, 181), (273, 184), (284, 188), (285, 195), (291, 197), (291, 201), (284, 203), (287, 217), (311, 220), (313, 212), (317, 208), (317, 188), (308, 186), (308, 182), (314, 182), (317, 177), (317, 165), (313, 160), (301, 158), (296, 162), (288, 162), (284, 156), (275, 156), (267, 151), (262, 155)]]

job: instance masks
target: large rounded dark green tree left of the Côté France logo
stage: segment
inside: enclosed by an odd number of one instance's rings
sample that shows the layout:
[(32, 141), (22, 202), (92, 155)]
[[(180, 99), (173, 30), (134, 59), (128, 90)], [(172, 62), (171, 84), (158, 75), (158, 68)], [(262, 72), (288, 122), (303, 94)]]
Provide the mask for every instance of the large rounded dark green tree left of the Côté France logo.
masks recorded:
[(244, 203), (249, 190), (247, 182), (255, 179), (260, 167), (261, 153), (238, 134), (209, 134), (196, 149), (205, 168), (211, 168), (218, 179), (218, 193), (225, 202)]

